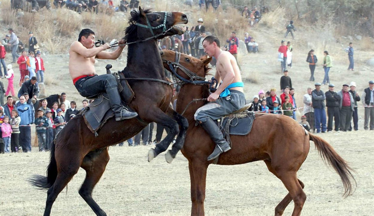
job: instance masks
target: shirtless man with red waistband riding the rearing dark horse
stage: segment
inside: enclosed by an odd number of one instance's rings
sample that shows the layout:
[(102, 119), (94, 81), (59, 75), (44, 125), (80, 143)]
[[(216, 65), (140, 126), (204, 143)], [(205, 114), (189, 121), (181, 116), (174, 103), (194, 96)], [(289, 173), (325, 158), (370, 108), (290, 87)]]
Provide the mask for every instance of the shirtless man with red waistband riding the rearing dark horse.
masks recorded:
[(109, 44), (94, 47), (94, 42), (95, 33), (90, 29), (83, 29), (79, 33), (78, 41), (70, 46), (69, 72), (75, 88), (83, 97), (107, 92), (116, 121), (137, 116), (136, 112), (131, 112), (121, 105), (115, 77), (112, 74), (98, 76), (94, 67), (95, 58), (117, 59), (125, 47), (124, 40), (119, 42), (120, 46), (114, 52), (105, 51), (110, 48)]

